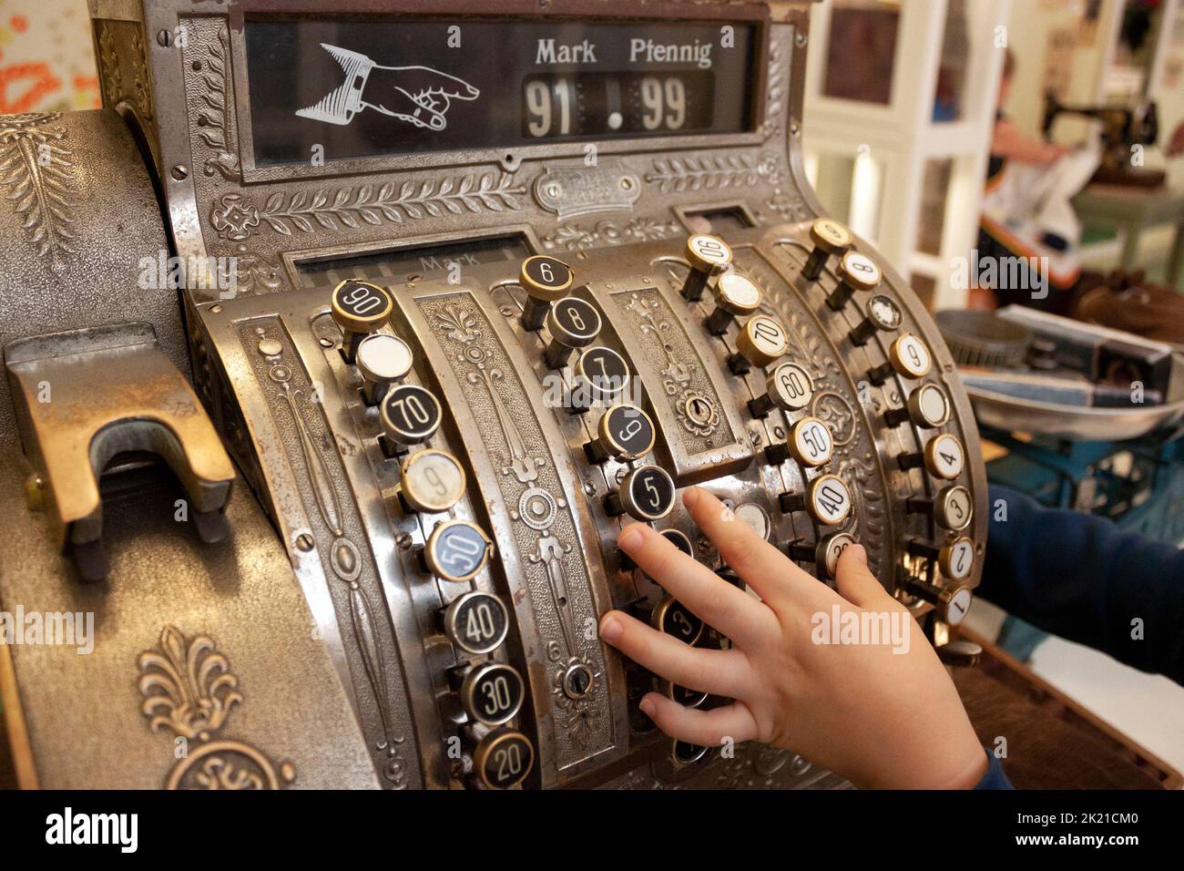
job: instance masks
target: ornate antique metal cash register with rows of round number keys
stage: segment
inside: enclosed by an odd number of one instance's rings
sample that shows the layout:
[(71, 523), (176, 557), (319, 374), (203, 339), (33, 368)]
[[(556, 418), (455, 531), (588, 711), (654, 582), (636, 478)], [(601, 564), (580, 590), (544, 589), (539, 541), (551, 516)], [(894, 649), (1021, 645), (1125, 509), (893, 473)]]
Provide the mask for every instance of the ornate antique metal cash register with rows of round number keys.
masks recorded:
[[(0, 647), (44, 787), (807, 787), (597, 638), (728, 640), (707, 487), (948, 640), (985, 479), (929, 316), (800, 164), (809, 7), (91, 0), (104, 108), (0, 120)], [(918, 716), (924, 716), (919, 711)]]

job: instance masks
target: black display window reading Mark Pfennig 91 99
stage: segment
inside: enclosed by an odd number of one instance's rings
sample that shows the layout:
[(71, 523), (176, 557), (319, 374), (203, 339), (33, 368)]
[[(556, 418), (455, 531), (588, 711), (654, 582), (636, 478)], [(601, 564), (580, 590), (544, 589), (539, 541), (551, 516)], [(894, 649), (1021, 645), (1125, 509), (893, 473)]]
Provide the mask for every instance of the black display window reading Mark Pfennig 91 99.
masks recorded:
[(746, 132), (754, 34), (684, 21), (252, 19), (256, 164)]

